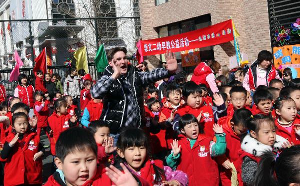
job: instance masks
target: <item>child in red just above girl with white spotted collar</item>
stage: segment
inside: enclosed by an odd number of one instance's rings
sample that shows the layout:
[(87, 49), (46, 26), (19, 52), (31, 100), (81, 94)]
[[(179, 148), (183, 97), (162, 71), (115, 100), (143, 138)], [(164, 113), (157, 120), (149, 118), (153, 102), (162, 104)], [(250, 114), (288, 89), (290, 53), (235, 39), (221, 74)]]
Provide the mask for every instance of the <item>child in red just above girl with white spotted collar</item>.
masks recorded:
[(263, 114), (269, 115), (271, 114), (272, 118), (276, 117), (275, 110), (272, 109), (273, 106), (273, 96), (267, 90), (256, 90), (253, 94), (254, 105), (251, 109), (253, 115)]

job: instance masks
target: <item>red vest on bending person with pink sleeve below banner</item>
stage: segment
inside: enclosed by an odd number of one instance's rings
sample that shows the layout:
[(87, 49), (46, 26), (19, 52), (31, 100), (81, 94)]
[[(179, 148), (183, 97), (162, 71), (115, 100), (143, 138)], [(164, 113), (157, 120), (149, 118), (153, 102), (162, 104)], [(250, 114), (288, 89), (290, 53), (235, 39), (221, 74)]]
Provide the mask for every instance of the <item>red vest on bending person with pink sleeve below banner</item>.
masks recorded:
[(205, 84), (207, 88), (209, 88), (209, 85), (206, 81), (206, 76), (208, 74), (212, 74), (212, 70), (209, 66), (206, 65), (204, 62), (200, 62), (196, 68), (194, 69), (193, 75), (191, 76), (191, 81), (198, 84)]

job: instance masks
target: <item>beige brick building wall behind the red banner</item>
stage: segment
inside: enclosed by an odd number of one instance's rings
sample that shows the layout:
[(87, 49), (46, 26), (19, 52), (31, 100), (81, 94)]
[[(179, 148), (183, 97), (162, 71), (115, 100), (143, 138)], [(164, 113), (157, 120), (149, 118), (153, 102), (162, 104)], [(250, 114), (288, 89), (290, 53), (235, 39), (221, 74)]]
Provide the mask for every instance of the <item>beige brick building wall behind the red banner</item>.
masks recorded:
[[(161, 27), (182, 20), (208, 15), (213, 25), (231, 16), (240, 34), (237, 38), (240, 51), (248, 54), (250, 63), (260, 50), (271, 51), (267, 0), (168, 0), (156, 5), (157, 1), (161, 0), (139, 0), (143, 40), (159, 37), (163, 32)], [(167, 34), (168, 30), (164, 31)], [(234, 54), (233, 41), (213, 46), (214, 59), (222, 65), (228, 65), (229, 57)], [(145, 59), (154, 67), (164, 60), (160, 55)]]

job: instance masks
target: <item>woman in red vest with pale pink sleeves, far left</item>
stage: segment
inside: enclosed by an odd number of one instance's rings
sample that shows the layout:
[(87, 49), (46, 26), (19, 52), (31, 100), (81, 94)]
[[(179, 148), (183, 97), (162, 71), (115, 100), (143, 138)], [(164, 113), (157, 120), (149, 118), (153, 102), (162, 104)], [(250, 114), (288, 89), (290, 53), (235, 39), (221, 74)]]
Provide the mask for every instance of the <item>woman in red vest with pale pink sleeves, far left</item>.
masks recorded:
[(33, 88), (33, 86), (29, 85), (27, 83), (26, 74), (20, 74), (17, 77), (17, 80), (18, 80), (18, 85), (14, 89), (14, 97), (20, 98), (22, 103), (25, 103), (30, 108), (32, 108), (33, 104), (34, 104), (34, 99), (33, 99), (34, 88)]

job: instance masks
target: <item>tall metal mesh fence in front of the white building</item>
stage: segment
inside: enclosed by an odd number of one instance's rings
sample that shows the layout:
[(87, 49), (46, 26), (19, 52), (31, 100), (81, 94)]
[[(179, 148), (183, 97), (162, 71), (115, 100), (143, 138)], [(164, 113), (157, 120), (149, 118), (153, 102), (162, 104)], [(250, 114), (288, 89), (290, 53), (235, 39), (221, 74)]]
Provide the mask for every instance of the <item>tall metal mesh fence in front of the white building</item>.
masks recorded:
[(131, 57), (140, 38), (139, 16), (8, 19), (0, 20), (0, 30), (0, 69), (14, 66), (15, 50), (24, 67), (33, 67), (34, 59), (44, 48), (52, 66), (68, 61), (74, 64), (73, 54), (82, 46), (86, 47), (89, 63), (93, 62), (100, 44), (104, 44), (105, 51), (126, 47)]

